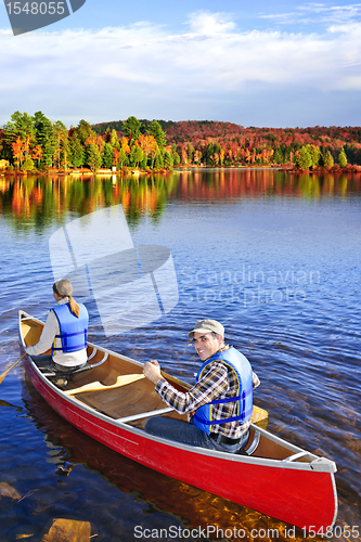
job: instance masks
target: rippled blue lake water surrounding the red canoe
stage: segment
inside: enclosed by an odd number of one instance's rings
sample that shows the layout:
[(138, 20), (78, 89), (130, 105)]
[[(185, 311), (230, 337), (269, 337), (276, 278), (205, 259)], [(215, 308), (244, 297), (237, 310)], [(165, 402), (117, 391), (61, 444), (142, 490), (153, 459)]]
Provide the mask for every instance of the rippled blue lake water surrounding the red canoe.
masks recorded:
[[(156, 358), (193, 382), (198, 361), (186, 333), (197, 319), (220, 320), (260, 377), (255, 403), (269, 412), (269, 430), (336, 462), (338, 530), (331, 539), (346, 540), (345, 526), (361, 532), (360, 176), (203, 169), (127, 180), (0, 177), (0, 372), (20, 356), (18, 309), (44, 320), (52, 306), (50, 236), (116, 205), (136, 246), (170, 250), (179, 301), (116, 336), (92, 314), (90, 339), (142, 362)], [(53, 518), (90, 521), (91, 540), (106, 542), (144, 533), (202, 540), (194, 529), (207, 526), (218, 529), (208, 540), (238, 540), (234, 528), (245, 540), (302, 539), (82, 435), (47, 406), (22, 365), (0, 397), (1, 542), (41, 541)], [(4, 483), (14, 498), (1, 492)]]

